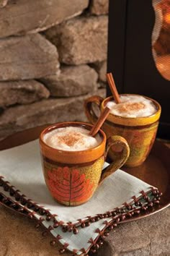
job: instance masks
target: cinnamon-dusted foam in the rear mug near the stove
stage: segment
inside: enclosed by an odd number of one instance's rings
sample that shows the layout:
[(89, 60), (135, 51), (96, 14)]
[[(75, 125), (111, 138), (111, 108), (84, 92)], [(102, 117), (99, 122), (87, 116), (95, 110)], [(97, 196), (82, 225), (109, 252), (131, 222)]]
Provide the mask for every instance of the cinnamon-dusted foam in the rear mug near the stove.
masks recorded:
[(120, 95), (121, 103), (109, 101), (107, 107), (110, 113), (123, 117), (144, 117), (156, 113), (156, 106), (153, 101), (140, 95)]

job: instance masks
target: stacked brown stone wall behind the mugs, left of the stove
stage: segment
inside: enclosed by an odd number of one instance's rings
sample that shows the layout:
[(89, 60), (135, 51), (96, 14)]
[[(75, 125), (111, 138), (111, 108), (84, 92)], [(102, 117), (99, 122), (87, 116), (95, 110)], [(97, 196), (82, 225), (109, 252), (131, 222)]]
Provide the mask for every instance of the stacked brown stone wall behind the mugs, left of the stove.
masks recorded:
[(105, 95), (108, 0), (0, 0), (0, 140), (86, 121)]

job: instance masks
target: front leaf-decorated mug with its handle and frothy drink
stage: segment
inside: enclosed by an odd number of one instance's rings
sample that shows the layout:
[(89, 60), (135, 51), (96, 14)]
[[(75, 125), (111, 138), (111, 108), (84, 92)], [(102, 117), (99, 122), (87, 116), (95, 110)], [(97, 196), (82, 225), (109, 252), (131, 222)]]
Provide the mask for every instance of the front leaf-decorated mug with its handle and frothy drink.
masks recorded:
[[(128, 159), (129, 146), (120, 136), (106, 135), (99, 129), (91, 137), (91, 124), (53, 124), (40, 135), (40, 152), (45, 182), (50, 194), (63, 205), (87, 202), (98, 185)], [(109, 148), (122, 146), (122, 152), (102, 171)]]

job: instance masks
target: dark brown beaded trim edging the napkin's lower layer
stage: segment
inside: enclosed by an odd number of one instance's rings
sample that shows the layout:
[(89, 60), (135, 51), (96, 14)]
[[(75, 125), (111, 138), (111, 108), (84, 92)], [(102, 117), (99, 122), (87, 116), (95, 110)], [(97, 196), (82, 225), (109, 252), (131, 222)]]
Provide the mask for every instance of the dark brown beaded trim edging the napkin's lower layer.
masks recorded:
[[(19, 202), (17, 202), (17, 200), (19, 201), (19, 197), (18, 197), (19, 190), (14, 190), (14, 187), (9, 186), (9, 184), (8, 184), (9, 182), (4, 182), (1, 178), (2, 177), (0, 177), (0, 186), (3, 186), (4, 191), (9, 192), (9, 194), (12, 197), (14, 197), (16, 201), (12, 200), (11, 197), (6, 197), (6, 195), (4, 195), (3, 193), (0, 192), (0, 203), (2, 205), (6, 205), (8, 208), (12, 208), (13, 210), (16, 210), (17, 212), (22, 213), (24, 216), (28, 216), (29, 218), (35, 219), (37, 221), (37, 218), (36, 218), (37, 212), (30, 210), (30, 208), (27, 208), (27, 202), (25, 203), (26, 206), (20, 205)], [(16, 194), (14, 194), (14, 193), (16, 193)], [(100, 229), (96, 230), (96, 232), (98, 233), (97, 238), (89, 239), (89, 248), (88, 249), (82, 248), (81, 249), (82, 254), (87, 255), (88, 252), (93, 252), (93, 253), (97, 252), (97, 249), (99, 249), (99, 247), (102, 246), (102, 244), (104, 242), (104, 238), (109, 236), (109, 232), (112, 231), (113, 229), (115, 229), (115, 227), (117, 226), (117, 223), (121, 223), (121, 221), (124, 221), (125, 218), (131, 218), (135, 214), (138, 215), (140, 212), (146, 211), (148, 208), (152, 208), (154, 205), (158, 205), (159, 201), (161, 199), (160, 197), (162, 195), (162, 193), (158, 192), (158, 189), (153, 188), (153, 187), (151, 187), (150, 192), (144, 192), (142, 190), (140, 193), (142, 195), (142, 197), (140, 197), (140, 198), (143, 198), (143, 202), (139, 202), (139, 199), (137, 197), (133, 197), (134, 204), (138, 208), (135, 208), (135, 206), (130, 205), (128, 203), (125, 203), (124, 208), (126, 208), (127, 211), (125, 211), (125, 209), (122, 209), (123, 211), (121, 211), (121, 209), (116, 209), (112, 212), (108, 212), (107, 216), (105, 216), (104, 218), (112, 218), (112, 219), (110, 221), (107, 221), (107, 220), (104, 221), (105, 226), (102, 230), (100, 230)], [(148, 193), (150, 193), (152, 200), (149, 200)], [(22, 197), (25, 197), (25, 196), (22, 195)], [(37, 210), (37, 209), (35, 209), (35, 210)], [(40, 211), (40, 210), (38, 209), (37, 211)], [(115, 211), (120, 213), (120, 215), (115, 216)], [(45, 213), (42, 214), (42, 212), (40, 211), (40, 214), (42, 216), (45, 215)], [(112, 215), (109, 213), (112, 213)], [(46, 221), (49, 221), (49, 219), (47, 219), (47, 216), (48, 215), (46, 215)], [(101, 218), (102, 218), (102, 216), (99, 216), (99, 219), (101, 219)], [(43, 221), (45, 221), (45, 218), (40, 217), (40, 219), (37, 221), (37, 224), (35, 225), (35, 228), (38, 229), (40, 226), (45, 227), (42, 224)], [(53, 229), (54, 229), (53, 226), (48, 226), (48, 228), (45, 228), (45, 231), (42, 232), (42, 236), (47, 235)], [(58, 235), (55, 237), (55, 239), (53, 239), (50, 242), (50, 244), (52, 246), (54, 246), (58, 241), (60, 242), (61, 239), (62, 239), (62, 236)], [(69, 246), (68, 243), (64, 243), (63, 247), (61, 247), (61, 249), (59, 249), (59, 252), (60, 253), (65, 252), (68, 246)], [(76, 254), (77, 252), (78, 252), (77, 249), (73, 249), (73, 255), (77, 255)]]

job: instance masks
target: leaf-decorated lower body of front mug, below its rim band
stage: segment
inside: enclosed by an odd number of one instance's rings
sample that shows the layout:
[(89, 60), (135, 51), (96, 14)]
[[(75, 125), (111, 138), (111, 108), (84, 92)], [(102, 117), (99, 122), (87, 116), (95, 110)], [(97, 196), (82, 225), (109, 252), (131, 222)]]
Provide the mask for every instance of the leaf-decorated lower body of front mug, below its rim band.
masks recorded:
[(93, 163), (64, 165), (43, 160), (45, 183), (50, 194), (63, 205), (75, 206), (88, 201), (97, 189), (104, 156)]

